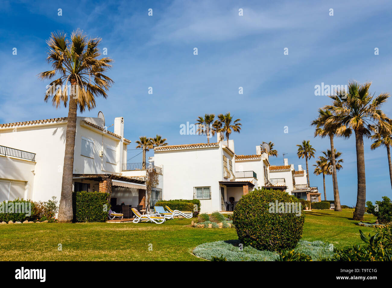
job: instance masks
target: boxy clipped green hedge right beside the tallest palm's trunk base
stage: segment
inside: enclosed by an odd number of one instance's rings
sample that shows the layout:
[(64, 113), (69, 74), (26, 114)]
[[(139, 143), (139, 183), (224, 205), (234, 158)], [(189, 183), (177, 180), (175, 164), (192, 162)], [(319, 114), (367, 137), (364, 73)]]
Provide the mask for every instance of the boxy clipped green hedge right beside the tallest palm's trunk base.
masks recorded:
[(109, 193), (103, 192), (73, 192), (74, 222), (105, 222), (110, 209), (109, 197)]

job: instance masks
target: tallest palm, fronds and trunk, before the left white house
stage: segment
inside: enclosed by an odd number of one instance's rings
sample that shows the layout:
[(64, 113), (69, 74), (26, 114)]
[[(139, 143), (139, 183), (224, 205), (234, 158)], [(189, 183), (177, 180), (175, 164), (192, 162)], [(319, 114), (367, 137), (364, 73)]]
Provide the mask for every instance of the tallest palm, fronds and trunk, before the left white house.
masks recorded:
[[(72, 208), (72, 179), (74, 163), (74, 147), (76, 133), (76, 110), (83, 112), (95, 107), (95, 97), (107, 97), (106, 91), (114, 83), (113, 80), (103, 73), (112, 65), (110, 58), (98, 57), (101, 55), (98, 49), (100, 38), (87, 38), (87, 35), (79, 29), (71, 34), (68, 39), (64, 32), (51, 33), (47, 40), (47, 62), (53, 70), (38, 74), (41, 80), (53, 80), (45, 93), (45, 102), (52, 97), (52, 104), (58, 108), (60, 105), (67, 107), (68, 118), (65, 134), (65, 154), (63, 178), (61, 186), (60, 207), (58, 212), (59, 222), (71, 222), (73, 218)], [(62, 89), (63, 84), (65, 89)], [(69, 97), (67, 87), (72, 87), (72, 96)], [(71, 96), (71, 95), (69, 95)]]

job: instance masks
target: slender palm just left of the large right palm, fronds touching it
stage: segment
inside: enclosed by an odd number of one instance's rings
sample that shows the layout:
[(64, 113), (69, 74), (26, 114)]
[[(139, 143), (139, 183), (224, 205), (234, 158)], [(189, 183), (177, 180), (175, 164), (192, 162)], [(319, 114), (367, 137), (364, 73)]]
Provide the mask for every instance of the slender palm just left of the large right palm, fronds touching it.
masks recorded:
[[(316, 126), (316, 130), (314, 131), (314, 137), (320, 136), (321, 138), (324, 138), (326, 136), (329, 137), (330, 140), (330, 145), (331, 145), (331, 151), (335, 151), (334, 147), (334, 135), (336, 134), (336, 130), (340, 127), (339, 123), (328, 123), (327, 120), (328, 118), (332, 117), (332, 112), (330, 110), (323, 110), (319, 109), (319, 116), (316, 120), (312, 121), (311, 125)], [(350, 136), (350, 131), (346, 130), (345, 134), (339, 135), (345, 138), (348, 138)], [(334, 201), (335, 201), (335, 211), (341, 211), (341, 206), (340, 206), (340, 196), (339, 196), (339, 187), (338, 187), (338, 175), (336, 173), (336, 163), (335, 163), (335, 155), (332, 154), (332, 181), (333, 181), (333, 187), (334, 187)]]

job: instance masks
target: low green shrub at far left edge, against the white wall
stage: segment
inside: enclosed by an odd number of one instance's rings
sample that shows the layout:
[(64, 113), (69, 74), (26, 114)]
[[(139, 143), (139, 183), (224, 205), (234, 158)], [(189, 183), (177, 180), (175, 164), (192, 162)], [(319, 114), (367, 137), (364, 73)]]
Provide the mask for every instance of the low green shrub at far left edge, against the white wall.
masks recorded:
[[(29, 214), (29, 206), (31, 207), (31, 215), (26, 216)], [(7, 209), (5, 209), (7, 207)], [(12, 208), (11, 208), (12, 207)], [(10, 208), (10, 210), (8, 210)], [(27, 211), (25, 210), (27, 208)], [(12, 210), (11, 210), (12, 209)], [(0, 222), (5, 221), (16, 221), (23, 222), (25, 220), (31, 221), (33, 219), (33, 210), (34, 210), (34, 203), (30, 200), (19, 200), (16, 198), (13, 201), (8, 201), (8, 203), (0, 202)], [(23, 213), (15, 213), (15, 212), (23, 212)], [(6, 213), (7, 212), (7, 213)]]

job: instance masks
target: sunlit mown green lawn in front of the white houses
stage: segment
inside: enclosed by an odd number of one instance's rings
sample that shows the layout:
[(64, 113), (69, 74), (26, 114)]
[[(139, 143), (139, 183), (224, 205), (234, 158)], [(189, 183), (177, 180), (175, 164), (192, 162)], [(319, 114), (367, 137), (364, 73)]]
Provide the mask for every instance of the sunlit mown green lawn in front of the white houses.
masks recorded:
[[(337, 247), (361, 243), (352, 210), (312, 211), (305, 219), (304, 240), (321, 240)], [(366, 221), (374, 222), (372, 215)], [(191, 228), (191, 219), (151, 223), (38, 223), (0, 225), (0, 261), (129, 260), (199, 261), (191, 254), (201, 243), (238, 239), (234, 228)], [(58, 244), (62, 251), (58, 251)], [(152, 251), (149, 251), (149, 247)]]

